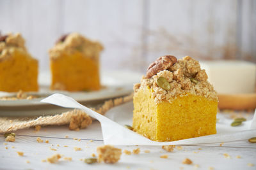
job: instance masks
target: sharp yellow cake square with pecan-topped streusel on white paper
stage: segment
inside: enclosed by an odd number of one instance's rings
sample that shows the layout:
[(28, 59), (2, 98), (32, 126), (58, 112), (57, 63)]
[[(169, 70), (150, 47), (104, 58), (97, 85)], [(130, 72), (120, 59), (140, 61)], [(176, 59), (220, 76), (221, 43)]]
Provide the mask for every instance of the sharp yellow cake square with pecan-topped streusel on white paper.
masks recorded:
[(134, 85), (134, 131), (154, 141), (216, 134), (218, 97), (200, 64), (165, 55)]

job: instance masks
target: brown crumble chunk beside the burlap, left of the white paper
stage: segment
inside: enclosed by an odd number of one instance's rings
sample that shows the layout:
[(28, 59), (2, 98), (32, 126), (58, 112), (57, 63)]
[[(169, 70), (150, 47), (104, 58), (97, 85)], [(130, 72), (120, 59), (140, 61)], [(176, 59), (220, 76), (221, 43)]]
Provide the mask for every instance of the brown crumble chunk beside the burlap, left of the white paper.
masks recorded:
[(79, 131), (79, 129), (84, 129), (88, 125), (92, 124), (92, 118), (81, 110), (73, 110), (74, 115), (72, 115), (71, 122), (69, 124), (69, 129), (72, 131)]

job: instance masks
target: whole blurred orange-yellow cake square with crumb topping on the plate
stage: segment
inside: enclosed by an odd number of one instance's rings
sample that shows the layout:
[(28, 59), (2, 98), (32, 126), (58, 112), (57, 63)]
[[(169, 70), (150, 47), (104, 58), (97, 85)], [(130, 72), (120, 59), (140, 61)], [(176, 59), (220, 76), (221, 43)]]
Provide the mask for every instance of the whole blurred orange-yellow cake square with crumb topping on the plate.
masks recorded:
[(62, 36), (49, 50), (52, 90), (99, 90), (99, 55), (103, 50), (76, 32)]

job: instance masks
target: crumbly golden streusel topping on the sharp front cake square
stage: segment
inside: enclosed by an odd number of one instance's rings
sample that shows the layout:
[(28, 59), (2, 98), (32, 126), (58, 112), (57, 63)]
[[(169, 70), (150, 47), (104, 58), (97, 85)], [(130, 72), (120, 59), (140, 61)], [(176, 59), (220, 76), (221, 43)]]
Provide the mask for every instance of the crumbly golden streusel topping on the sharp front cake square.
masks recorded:
[[(166, 90), (166, 88), (159, 87), (159, 84), (157, 85), (159, 77), (163, 77), (170, 83), (170, 89)], [(204, 96), (209, 100), (218, 100), (217, 93), (207, 81), (207, 78), (207, 74), (204, 69), (200, 68), (199, 62), (186, 56), (150, 78), (143, 76), (141, 83), (134, 85), (134, 95), (139, 90), (150, 88), (156, 103), (161, 103), (162, 101), (172, 103), (177, 96), (186, 96), (188, 94)]]

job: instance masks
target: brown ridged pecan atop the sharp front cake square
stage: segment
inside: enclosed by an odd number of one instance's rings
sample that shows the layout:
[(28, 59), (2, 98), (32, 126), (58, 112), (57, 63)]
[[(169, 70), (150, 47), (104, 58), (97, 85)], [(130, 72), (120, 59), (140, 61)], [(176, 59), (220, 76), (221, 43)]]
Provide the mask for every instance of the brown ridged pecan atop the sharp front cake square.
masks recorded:
[(175, 62), (177, 62), (177, 58), (173, 55), (164, 55), (162, 57), (159, 57), (155, 62), (148, 66), (146, 78), (151, 78), (159, 71), (168, 69), (170, 66), (175, 64)]

